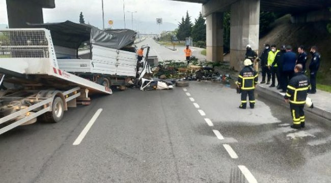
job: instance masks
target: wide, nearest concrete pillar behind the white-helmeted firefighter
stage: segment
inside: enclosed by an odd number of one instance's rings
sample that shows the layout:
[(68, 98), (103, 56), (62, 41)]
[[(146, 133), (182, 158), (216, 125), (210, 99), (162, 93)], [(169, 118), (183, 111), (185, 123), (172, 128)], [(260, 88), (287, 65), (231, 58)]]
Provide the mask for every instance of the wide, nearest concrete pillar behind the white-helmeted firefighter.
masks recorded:
[(243, 67), (246, 45), (259, 49), (260, 0), (240, 0), (231, 5), (230, 66)]

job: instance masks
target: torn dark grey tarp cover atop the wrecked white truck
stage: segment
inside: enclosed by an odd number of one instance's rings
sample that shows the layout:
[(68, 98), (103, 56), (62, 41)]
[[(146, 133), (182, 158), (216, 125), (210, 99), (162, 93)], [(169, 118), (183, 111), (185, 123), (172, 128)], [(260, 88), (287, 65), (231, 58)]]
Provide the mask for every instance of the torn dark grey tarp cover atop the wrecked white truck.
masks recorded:
[(130, 29), (108, 29), (101, 31), (95, 26), (65, 21), (60, 23), (28, 23), (36, 28), (46, 28), (50, 31), (53, 44), (78, 49), (83, 42), (121, 49), (132, 45), (136, 32)]

